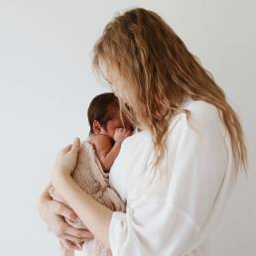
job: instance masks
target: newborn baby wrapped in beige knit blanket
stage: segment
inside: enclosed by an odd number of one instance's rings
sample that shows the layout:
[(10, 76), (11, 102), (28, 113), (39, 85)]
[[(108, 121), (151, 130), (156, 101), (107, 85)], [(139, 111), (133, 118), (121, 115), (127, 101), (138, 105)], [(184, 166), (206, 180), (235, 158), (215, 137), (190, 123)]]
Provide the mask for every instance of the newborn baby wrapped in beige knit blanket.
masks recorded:
[[(113, 93), (103, 93), (94, 97), (87, 116), (90, 132), (81, 145), (72, 178), (84, 192), (100, 203), (112, 210), (124, 211), (124, 203), (109, 187), (108, 172), (120, 151), (122, 142), (131, 135), (133, 127), (125, 117), (125, 120), (121, 120), (118, 99)], [(62, 195), (53, 187), (49, 192), (54, 199), (67, 205)], [(68, 218), (65, 220), (73, 227), (86, 229), (80, 220), (77, 222)], [(86, 242), (83, 250), (90, 256), (111, 255), (111, 251), (97, 239)], [(63, 246), (63, 256), (67, 255), (73, 255), (73, 251)]]

